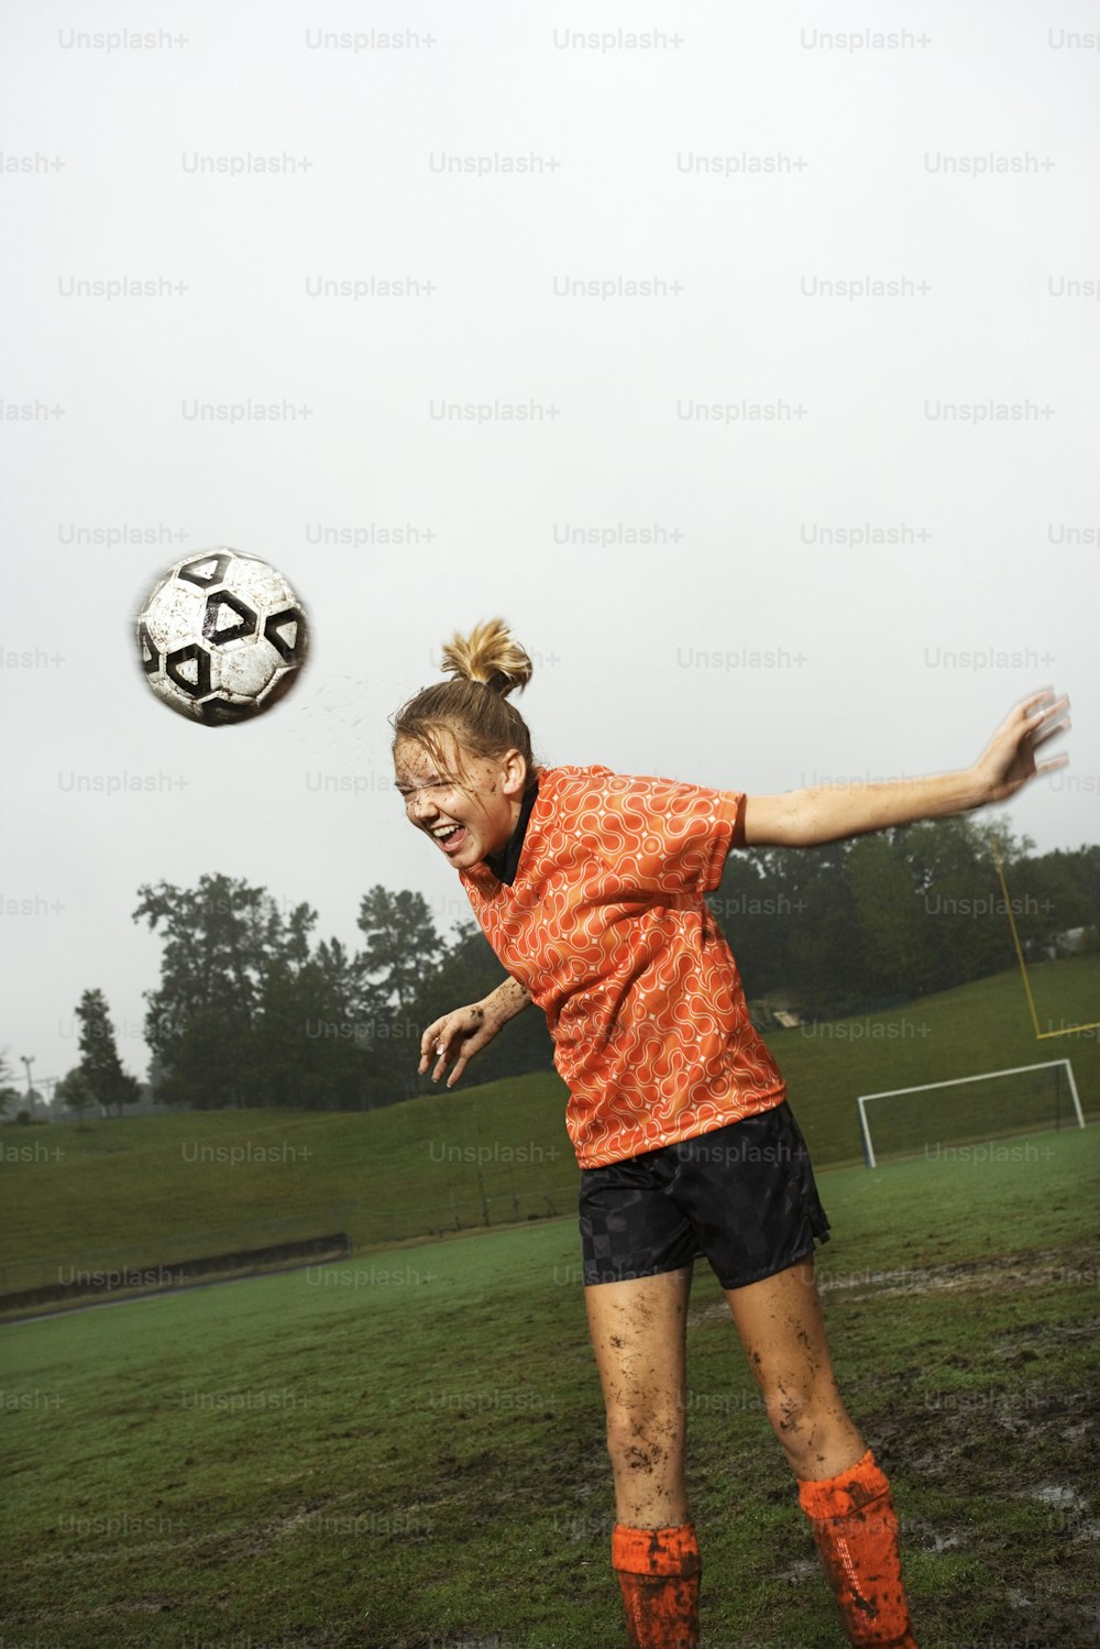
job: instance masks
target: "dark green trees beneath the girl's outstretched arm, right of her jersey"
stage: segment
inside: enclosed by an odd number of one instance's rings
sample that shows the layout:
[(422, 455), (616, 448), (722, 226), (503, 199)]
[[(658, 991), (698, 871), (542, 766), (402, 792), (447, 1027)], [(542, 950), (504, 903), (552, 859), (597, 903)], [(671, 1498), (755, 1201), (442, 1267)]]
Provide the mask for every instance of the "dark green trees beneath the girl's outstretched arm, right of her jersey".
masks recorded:
[[(998, 859), (1008, 900), (998, 876)], [(1039, 857), (966, 815), (815, 849), (731, 854), (711, 905), (760, 1029), (770, 1009), (838, 1019), (1011, 968), (1009, 912), (1027, 961), (1097, 947), (1100, 846)]]

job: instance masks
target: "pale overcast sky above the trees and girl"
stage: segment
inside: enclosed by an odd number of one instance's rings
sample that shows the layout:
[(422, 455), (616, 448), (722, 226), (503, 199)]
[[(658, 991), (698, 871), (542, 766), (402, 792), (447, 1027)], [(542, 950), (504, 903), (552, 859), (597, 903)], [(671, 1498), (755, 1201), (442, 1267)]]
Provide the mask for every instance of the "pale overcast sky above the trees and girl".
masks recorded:
[[(378, 882), (468, 915), (389, 788), (388, 716), (498, 613), (544, 762), (722, 788), (963, 767), (1054, 684), (1070, 765), (1008, 818), (1041, 851), (1100, 839), (1095, 30), (993, 0), (8, 5), (20, 1077), (76, 1062), (91, 986), (143, 1075), (145, 881), (246, 877), (348, 945)], [(122, 280), (155, 295), (79, 295)], [(861, 280), (900, 292), (825, 295)], [(284, 416), (196, 416), (249, 402)], [(844, 543), (867, 528), (894, 541)], [(130, 637), (211, 544), (270, 559), (313, 623), (242, 727), (163, 709)]]

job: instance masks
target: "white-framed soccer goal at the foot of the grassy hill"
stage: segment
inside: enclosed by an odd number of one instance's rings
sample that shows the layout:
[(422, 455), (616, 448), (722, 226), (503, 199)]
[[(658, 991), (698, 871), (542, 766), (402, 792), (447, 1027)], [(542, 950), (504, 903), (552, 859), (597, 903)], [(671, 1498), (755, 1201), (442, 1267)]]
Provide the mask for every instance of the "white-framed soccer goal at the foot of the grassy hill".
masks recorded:
[(884, 1158), (927, 1156), (932, 1148), (938, 1154), (973, 1139), (1085, 1126), (1067, 1059), (861, 1093), (856, 1103), (867, 1167)]

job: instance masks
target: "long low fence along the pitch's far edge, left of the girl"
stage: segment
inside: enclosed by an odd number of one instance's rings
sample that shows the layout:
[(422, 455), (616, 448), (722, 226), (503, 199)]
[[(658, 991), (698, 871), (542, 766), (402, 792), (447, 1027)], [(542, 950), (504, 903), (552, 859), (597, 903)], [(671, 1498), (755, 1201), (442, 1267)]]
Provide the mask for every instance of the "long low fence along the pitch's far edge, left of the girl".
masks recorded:
[[(442, 1237), (449, 1232), (473, 1230), (485, 1225), (511, 1225), (523, 1220), (557, 1219), (574, 1214), (577, 1205), (577, 1181), (539, 1191), (506, 1191), (488, 1196), (480, 1186), (450, 1191), (445, 1202), (422, 1205), (369, 1205), (343, 1202), (336, 1207), (313, 1209), (274, 1220), (241, 1220), (206, 1230), (175, 1232), (120, 1248), (81, 1248), (69, 1255), (35, 1255), (0, 1263), (0, 1311), (13, 1309), (13, 1296), (41, 1294), (58, 1290), (51, 1298), (66, 1298), (73, 1286), (87, 1276), (135, 1276), (122, 1288), (172, 1288), (180, 1266), (198, 1276), (224, 1270), (228, 1257), (256, 1255), (270, 1250), (302, 1248), (305, 1243), (327, 1242), (318, 1232), (338, 1232), (346, 1243), (345, 1252), (371, 1243), (406, 1242), (412, 1237)], [(257, 1261), (272, 1263), (272, 1261)], [(142, 1273), (142, 1275), (139, 1275)], [(158, 1281), (163, 1273), (163, 1281)], [(94, 1286), (86, 1290), (96, 1293)], [(18, 1308), (15, 1308), (18, 1309)]]

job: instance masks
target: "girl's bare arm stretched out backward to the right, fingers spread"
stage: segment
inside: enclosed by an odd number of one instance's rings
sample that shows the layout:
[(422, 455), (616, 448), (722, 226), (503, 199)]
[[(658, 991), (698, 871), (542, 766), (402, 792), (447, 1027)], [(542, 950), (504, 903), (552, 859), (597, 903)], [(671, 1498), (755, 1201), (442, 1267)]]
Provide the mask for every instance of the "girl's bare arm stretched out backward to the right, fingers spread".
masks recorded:
[(818, 848), (889, 824), (948, 818), (1004, 801), (1039, 773), (1069, 757), (1036, 762), (1036, 750), (1069, 727), (1069, 699), (1047, 688), (1018, 704), (973, 767), (930, 778), (896, 778), (867, 785), (816, 785), (782, 796), (745, 796), (745, 848)]

